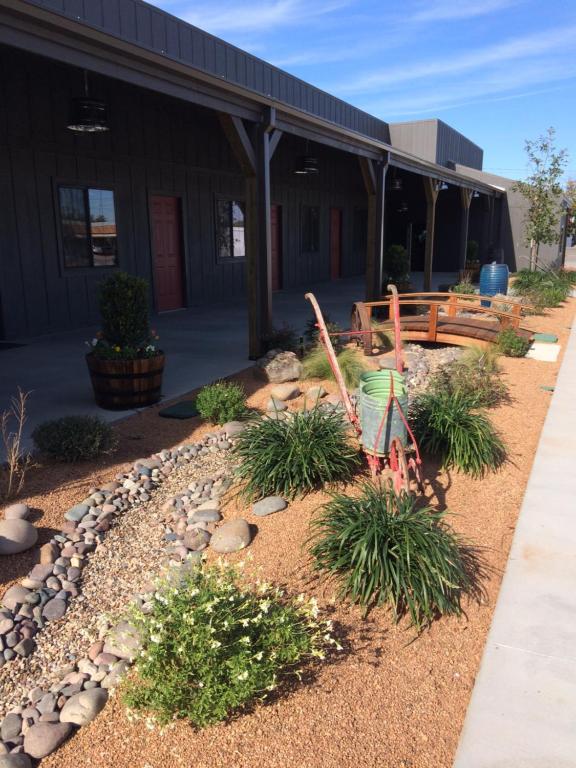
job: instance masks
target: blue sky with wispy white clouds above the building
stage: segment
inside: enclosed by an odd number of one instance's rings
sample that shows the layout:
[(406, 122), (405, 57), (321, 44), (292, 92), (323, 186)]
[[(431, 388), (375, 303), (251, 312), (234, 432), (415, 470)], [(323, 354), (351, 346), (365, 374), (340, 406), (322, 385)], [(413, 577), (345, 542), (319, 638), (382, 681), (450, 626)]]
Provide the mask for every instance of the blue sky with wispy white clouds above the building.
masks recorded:
[(576, 178), (576, 0), (154, 0), (389, 122), (438, 117), (524, 175), (548, 128)]

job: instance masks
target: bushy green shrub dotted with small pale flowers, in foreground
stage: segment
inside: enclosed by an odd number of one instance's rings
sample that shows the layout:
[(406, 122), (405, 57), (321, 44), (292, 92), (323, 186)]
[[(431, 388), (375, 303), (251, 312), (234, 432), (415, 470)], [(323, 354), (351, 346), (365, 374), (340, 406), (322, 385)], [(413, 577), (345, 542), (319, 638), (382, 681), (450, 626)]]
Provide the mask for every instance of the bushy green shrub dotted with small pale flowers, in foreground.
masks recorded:
[(339, 647), (314, 601), (240, 583), (230, 567), (175, 572), (151, 604), (132, 617), (143, 652), (122, 696), (161, 724), (185, 718), (202, 728), (225, 720)]

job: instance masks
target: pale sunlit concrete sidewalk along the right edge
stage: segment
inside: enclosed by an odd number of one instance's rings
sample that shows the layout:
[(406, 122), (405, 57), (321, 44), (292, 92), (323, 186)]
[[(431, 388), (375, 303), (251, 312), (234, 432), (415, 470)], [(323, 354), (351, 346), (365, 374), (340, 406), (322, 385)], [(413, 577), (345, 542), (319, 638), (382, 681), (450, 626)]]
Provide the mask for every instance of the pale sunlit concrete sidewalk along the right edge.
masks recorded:
[(455, 768), (576, 767), (575, 392), (576, 326), (540, 437)]

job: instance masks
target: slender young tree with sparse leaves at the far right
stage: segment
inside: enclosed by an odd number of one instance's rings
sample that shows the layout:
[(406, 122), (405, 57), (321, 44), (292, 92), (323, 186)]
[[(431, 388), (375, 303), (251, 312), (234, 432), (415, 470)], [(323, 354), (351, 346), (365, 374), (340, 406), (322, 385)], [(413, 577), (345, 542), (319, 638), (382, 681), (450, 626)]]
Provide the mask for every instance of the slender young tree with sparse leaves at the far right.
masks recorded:
[(556, 131), (548, 128), (534, 141), (526, 141), (530, 174), (514, 189), (528, 201), (526, 245), (530, 246), (530, 269), (538, 263), (540, 245), (558, 242), (558, 222), (563, 189), (560, 179), (567, 162), (565, 149), (555, 145)]

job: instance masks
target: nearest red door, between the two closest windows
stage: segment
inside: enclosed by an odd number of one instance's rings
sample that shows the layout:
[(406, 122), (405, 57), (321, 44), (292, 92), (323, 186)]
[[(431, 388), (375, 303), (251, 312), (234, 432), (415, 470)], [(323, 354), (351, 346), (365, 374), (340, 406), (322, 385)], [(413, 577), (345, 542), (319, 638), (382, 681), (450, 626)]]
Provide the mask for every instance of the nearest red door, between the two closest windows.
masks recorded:
[(156, 310), (184, 306), (180, 199), (154, 195), (150, 200)]

